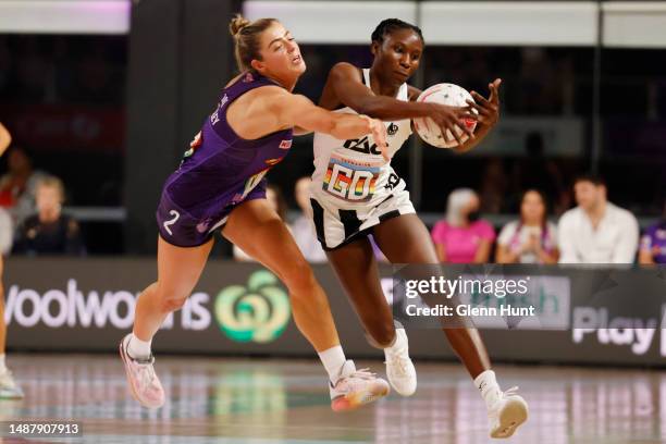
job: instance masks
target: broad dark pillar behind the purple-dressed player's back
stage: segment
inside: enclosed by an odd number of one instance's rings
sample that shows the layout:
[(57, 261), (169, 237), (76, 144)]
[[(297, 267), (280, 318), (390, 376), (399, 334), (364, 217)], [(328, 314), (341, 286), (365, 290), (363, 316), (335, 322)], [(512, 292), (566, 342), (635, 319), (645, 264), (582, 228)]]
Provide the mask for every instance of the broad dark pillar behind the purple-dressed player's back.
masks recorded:
[(127, 79), (125, 250), (156, 249), (161, 186), (235, 70), (227, 24), (240, 1), (133, 5)]

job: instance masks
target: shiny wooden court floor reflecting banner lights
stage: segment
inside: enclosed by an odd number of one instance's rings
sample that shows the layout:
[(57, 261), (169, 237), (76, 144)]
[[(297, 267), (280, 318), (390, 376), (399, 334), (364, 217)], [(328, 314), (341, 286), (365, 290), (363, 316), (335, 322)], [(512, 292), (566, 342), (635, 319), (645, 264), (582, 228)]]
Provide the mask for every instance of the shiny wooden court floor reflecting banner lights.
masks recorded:
[[(329, 407), (325, 377), (308, 360), (158, 357), (168, 402), (143, 409), (115, 356), (10, 355), (26, 393), (0, 402), (0, 421), (76, 420), (84, 437), (0, 443), (489, 443), (485, 409), (462, 368), (416, 362), (415, 396), (351, 414)], [(361, 362), (357, 362), (361, 363)], [(380, 361), (362, 362), (384, 372)], [(358, 366), (357, 366), (358, 367)], [(666, 372), (498, 366), (519, 385), (530, 419), (510, 443), (666, 442)], [(498, 441), (495, 441), (498, 442)]]

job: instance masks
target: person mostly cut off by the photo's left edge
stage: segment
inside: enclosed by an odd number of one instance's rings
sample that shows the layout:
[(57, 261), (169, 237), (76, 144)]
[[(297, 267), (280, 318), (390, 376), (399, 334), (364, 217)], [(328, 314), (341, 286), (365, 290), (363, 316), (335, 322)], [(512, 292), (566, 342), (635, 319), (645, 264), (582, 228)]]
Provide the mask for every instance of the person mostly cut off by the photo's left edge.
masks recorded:
[[(12, 143), (7, 128), (0, 123), (0, 156)], [(7, 368), (4, 348), (7, 344), (7, 323), (4, 322), (4, 286), (2, 275), (4, 272), (4, 255), (12, 247), (12, 219), (9, 213), (0, 208), (0, 399), (21, 399), (23, 391)]]

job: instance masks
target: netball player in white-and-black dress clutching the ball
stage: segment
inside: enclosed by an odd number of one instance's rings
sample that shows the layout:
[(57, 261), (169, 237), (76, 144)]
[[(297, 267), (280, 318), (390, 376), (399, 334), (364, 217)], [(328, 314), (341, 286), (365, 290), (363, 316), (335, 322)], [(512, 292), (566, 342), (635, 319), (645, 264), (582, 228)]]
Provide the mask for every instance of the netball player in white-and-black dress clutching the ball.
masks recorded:
[[(417, 88), (407, 79), (419, 66), (423, 36), (414, 25), (396, 18), (385, 20), (372, 33), (374, 55), (370, 69), (338, 63), (331, 70), (319, 106), (341, 114), (368, 114), (381, 119), (387, 127), (388, 153), (393, 155), (411, 134), (414, 118), (431, 118), (442, 127), (458, 126), (473, 108), (479, 125), (469, 140), (458, 146), (466, 151), (489, 133), (498, 119), (496, 79), (490, 98), (477, 92), (477, 103), (451, 108), (416, 102)], [(470, 136), (472, 136), (470, 134)], [(456, 136), (460, 143), (459, 136)], [(317, 133), (311, 203), (318, 237), (326, 250), (346, 293), (372, 342), (386, 357), (388, 381), (403, 395), (411, 395), (417, 385), (416, 371), (408, 355), (407, 335), (396, 330), (391, 308), (384, 298), (372, 247), (372, 233), (382, 252), (392, 263), (437, 263), (437, 255), (425, 225), (416, 215), (405, 182), (382, 156), (372, 136), (343, 138)], [(510, 436), (527, 419), (527, 404), (511, 388), (502, 392), (479, 332), (476, 329), (444, 330), (476, 386), (486, 403), (491, 436)]]

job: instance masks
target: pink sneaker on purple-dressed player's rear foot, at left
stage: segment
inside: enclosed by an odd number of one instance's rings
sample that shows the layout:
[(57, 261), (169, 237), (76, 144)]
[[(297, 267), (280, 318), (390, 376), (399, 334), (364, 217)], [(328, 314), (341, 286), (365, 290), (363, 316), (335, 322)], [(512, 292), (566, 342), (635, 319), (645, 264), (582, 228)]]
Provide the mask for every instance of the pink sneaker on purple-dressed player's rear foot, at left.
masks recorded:
[(144, 407), (160, 408), (164, 405), (164, 388), (162, 388), (162, 384), (152, 368), (155, 357), (151, 355), (150, 358), (143, 360), (130, 356), (127, 354), (130, 337), (132, 337), (132, 334), (126, 335), (121, 341), (120, 353), (125, 363), (132, 396)]

